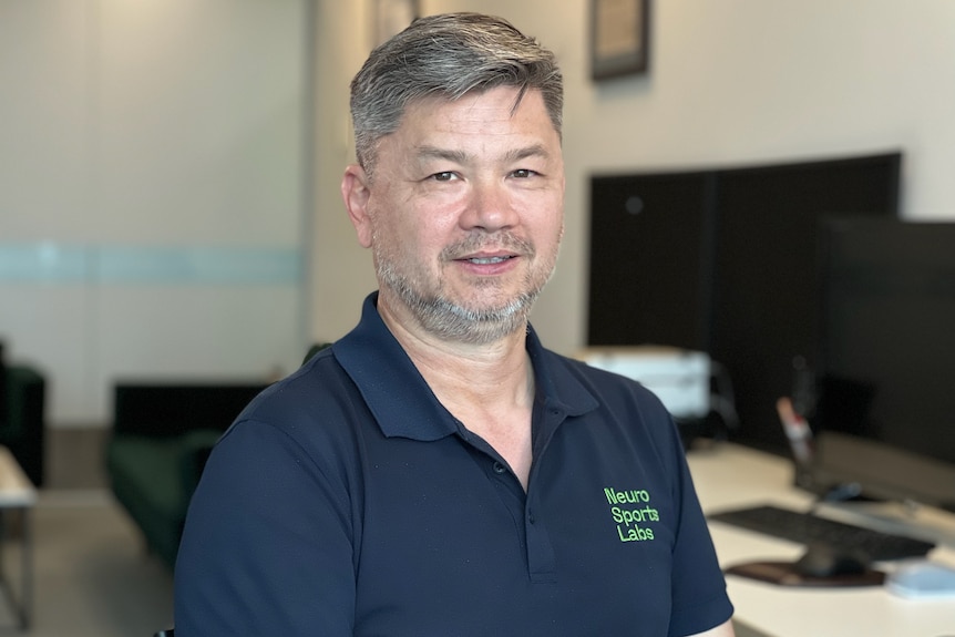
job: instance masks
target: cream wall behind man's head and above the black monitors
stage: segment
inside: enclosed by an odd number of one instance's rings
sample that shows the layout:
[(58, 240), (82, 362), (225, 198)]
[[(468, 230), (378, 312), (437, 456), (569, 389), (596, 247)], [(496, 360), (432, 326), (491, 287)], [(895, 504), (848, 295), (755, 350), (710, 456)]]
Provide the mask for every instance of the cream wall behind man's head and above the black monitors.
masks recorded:
[[(594, 173), (901, 150), (903, 214), (955, 216), (948, 175), (955, 166), (955, 2), (949, 0), (655, 0), (649, 74), (599, 84), (589, 79), (588, 1), (423, 0), (422, 9), (503, 16), (562, 61), (567, 233), (557, 273), (533, 318), (558, 351), (576, 350), (586, 332)], [(325, 69), (340, 65), (329, 78), (336, 84), (324, 83), (340, 95), (336, 107), (347, 107), (341, 75), (350, 76), (368, 51), (359, 33), (351, 35), (341, 59), (321, 62)], [(320, 116), (342, 119), (330, 112)], [(337, 183), (340, 158), (341, 153), (320, 155), (319, 173), (329, 184)], [(341, 219), (340, 197), (331, 191), (319, 195), (318, 214)], [(345, 290), (312, 323), (315, 333), (332, 338), (351, 327), (356, 304), (373, 281), (370, 258), (345, 223), (317, 237), (316, 251), (326, 250), (355, 273), (348, 277), (353, 285), (345, 282), (343, 269), (316, 275), (316, 304), (322, 302), (322, 290)]]

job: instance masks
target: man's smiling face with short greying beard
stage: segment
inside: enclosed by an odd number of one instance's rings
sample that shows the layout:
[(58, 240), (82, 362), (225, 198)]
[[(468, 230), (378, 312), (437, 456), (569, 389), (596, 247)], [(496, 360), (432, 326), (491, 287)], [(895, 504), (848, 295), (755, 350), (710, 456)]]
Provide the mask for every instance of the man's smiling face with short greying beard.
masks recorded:
[(352, 220), (373, 250), (379, 306), (441, 338), (523, 329), (556, 263), (561, 142), (541, 94), (515, 109), (517, 94), (413, 103), (380, 141), (373, 179), (362, 174), (366, 216)]

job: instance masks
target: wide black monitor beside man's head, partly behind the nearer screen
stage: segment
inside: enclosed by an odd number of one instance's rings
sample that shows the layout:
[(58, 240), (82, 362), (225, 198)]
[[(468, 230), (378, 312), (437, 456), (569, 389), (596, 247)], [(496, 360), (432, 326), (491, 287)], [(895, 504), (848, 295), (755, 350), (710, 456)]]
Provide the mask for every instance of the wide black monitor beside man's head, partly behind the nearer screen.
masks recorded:
[(731, 380), (732, 439), (785, 453), (774, 405), (793, 361), (814, 364), (819, 222), (896, 217), (901, 165), (889, 152), (594, 175), (587, 345), (706, 352)]

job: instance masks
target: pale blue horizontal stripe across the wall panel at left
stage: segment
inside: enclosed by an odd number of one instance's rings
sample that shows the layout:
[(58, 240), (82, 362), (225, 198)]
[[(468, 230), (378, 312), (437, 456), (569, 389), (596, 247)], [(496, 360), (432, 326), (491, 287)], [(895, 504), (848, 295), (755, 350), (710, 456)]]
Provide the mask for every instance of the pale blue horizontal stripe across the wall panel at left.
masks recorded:
[(294, 285), (297, 248), (0, 244), (0, 281), (99, 285)]

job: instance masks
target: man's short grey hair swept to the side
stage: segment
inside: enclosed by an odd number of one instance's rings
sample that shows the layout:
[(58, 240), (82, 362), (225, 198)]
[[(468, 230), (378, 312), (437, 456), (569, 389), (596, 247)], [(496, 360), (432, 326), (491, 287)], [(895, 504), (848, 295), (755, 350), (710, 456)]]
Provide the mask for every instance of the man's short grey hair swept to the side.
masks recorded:
[(374, 49), (351, 81), (358, 163), (371, 175), (379, 140), (398, 130), (408, 105), (458, 100), (497, 86), (538, 90), (561, 135), (564, 83), (553, 52), (502, 18), (460, 12), (414, 20)]

